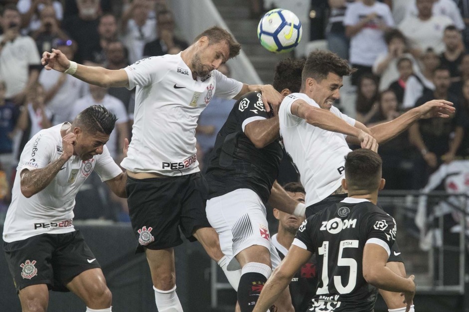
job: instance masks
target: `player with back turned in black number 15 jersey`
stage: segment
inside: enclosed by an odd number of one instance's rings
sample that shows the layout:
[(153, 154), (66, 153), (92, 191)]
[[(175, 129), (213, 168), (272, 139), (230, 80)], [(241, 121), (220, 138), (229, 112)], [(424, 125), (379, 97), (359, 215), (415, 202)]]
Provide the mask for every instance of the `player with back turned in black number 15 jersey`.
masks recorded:
[(308, 217), (292, 246), (265, 284), (253, 312), (264, 312), (292, 277), (316, 253), (318, 284), (309, 311), (373, 311), (377, 290), (401, 292), (406, 311), (415, 295), (414, 276), (403, 278), (386, 267), (397, 228), (376, 206), (383, 189), (381, 158), (358, 149), (345, 158), (342, 187), (348, 198)]

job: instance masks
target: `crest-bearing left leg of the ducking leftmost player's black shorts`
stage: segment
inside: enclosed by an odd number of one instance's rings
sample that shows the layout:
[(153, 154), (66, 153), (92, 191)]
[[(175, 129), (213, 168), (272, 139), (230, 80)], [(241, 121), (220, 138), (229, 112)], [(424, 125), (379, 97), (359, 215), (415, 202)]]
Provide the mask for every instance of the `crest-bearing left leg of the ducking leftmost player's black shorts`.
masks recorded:
[(49, 234), (3, 243), (6, 262), (16, 291), (41, 284), (50, 289), (54, 287), (51, 260), (55, 249), (54, 236)]

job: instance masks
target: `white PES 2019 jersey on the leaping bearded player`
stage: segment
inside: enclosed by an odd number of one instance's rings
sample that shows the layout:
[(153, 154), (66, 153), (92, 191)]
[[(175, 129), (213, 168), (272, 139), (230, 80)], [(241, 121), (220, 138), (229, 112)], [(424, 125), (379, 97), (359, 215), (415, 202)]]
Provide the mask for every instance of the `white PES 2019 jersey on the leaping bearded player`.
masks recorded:
[(195, 127), (212, 97), (231, 99), (243, 86), (217, 70), (192, 72), (177, 55), (153, 56), (125, 68), (129, 89), (137, 86), (132, 142), (121, 165), (133, 172), (165, 176), (199, 171)]

